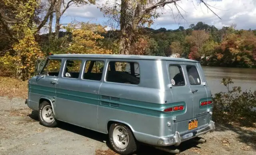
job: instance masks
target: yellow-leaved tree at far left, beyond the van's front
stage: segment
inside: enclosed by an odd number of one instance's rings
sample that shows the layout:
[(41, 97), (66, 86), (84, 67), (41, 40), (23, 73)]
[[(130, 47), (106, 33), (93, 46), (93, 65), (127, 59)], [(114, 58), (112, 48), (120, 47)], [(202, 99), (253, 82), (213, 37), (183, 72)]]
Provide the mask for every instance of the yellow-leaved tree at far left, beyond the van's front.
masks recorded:
[[(37, 32), (36, 23), (34, 22), (34, 15), (38, 2), (34, 0), (4, 0), (4, 7), (12, 8), (12, 20), (6, 19), (4, 13), (1, 12), (1, 24), (15, 42), (12, 49), (7, 50), (3, 57), (0, 58), (2, 64), (9, 70), (12, 70), (14, 76), (18, 79), (28, 79), (34, 71), (34, 62), (42, 56), (42, 52), (35, 41), (34, 34)], [(11, 24), (8, 25), (8, 23)]]

